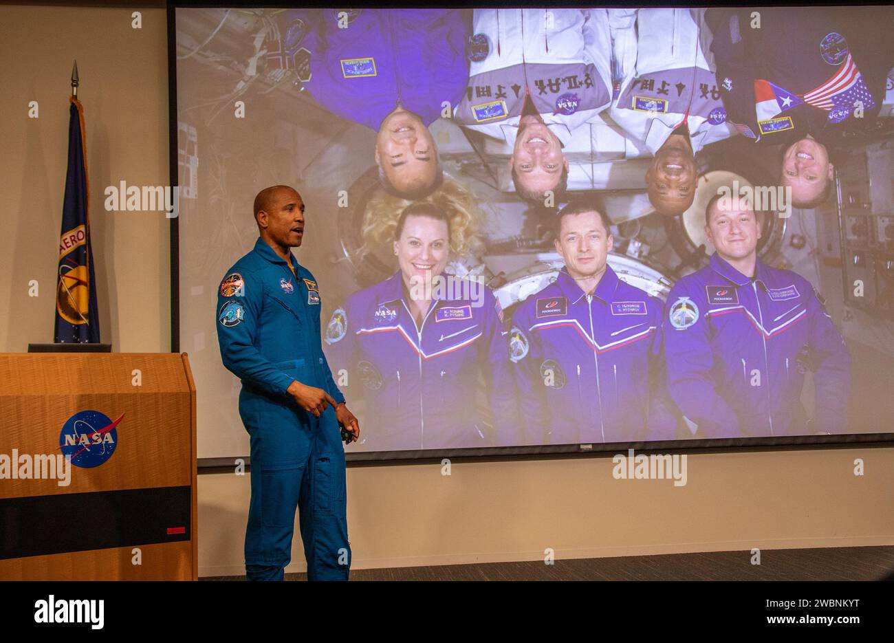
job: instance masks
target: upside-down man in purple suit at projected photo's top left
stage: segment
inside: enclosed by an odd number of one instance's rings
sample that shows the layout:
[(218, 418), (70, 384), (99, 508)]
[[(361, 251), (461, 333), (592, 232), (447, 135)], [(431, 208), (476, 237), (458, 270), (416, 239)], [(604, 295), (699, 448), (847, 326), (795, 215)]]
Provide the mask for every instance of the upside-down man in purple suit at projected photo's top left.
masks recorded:
[(283, 16), (290, 21), (283, 48), (292, 57), (308, 52), (304, 89), (333, 114), (377, 132), (384, 188), (405, 199), (435, 190), (443, 172), (428, 126), (445, 106), (450, 115), (466, 87), (471, 12), (301, 9)]

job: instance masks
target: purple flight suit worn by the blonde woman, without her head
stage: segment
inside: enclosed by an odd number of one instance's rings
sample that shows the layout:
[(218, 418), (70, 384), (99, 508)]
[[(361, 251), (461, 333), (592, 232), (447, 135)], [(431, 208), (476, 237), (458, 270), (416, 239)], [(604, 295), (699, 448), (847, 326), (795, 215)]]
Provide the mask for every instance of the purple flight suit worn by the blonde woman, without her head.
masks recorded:
[[(334, 310), (326, 350), (336, 372), (348, 373), (350, 390), (366, 401), (367, 418), (375, 418), (361, 443), (367, 449), (518, 444), (502, 309), (493, 292), (478, 287), (480, 306), (450, 293), (436, 296), (420, 328), (401, 271)], [(482, 387), (490, 413), (477, 408)]]

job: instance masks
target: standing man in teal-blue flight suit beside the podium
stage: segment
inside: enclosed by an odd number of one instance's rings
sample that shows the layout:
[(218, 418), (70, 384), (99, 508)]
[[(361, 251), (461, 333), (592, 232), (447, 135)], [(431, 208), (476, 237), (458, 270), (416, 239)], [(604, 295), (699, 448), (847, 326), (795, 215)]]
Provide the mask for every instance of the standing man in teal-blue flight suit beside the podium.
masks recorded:
[(289, 250), (301, 245), (304, 202), (290, 187), (266, 188), (255, 219), (260, 238), (223, 277), (216, 323), (223, 366), (242, 381), (239, 413), (251, 439), (247, 576), (283, 580), (299, 506), (308, 580), (347, 580), (339, 427), (349, 441), (360, 429), (322, 351), (316, 279)]

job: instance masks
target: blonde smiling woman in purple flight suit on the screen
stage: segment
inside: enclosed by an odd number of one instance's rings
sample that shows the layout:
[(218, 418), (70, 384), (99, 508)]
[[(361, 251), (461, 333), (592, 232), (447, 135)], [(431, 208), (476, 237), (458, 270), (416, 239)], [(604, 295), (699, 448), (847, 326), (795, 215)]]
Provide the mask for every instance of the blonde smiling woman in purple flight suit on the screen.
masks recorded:
[[(394, 234), (400, 269), (351, 295), (326, 328), (333, 372), (347, 373), (340, 383), (374, 419), (367, 450), (516, 444), (502, 309), (483, 283), (442, 276), (450, 249), (450, 216), (407, 207)], [(482, 380), (493, 424), (477, 409)]]

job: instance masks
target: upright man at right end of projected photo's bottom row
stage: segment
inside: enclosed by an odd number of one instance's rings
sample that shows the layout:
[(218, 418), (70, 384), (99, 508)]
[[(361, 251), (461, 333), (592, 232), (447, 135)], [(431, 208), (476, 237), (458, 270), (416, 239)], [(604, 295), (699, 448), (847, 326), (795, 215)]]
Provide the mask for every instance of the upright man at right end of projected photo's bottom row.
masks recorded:
[[(848, 348), (814, 287), (757, 258), (761, 229), (746, 200), (718, 195), (705, 220), (717, 251), (676, 283), (664, 318), (668, 386), (690, 429), (709, 438), (847, 431)], [(812, 423), (801, 405), (806, 368)]]

